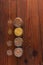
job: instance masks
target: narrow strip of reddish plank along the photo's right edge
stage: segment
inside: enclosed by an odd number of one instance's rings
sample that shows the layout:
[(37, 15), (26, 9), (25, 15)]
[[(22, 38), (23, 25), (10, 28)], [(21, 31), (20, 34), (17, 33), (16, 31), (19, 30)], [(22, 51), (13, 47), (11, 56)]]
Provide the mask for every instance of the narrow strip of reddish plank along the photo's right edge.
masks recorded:
[(40, 33), (41, 33), (41, 52), (42, 52), (42, 60), (43, 63), (43, 0), (38, 1), (39, 4), (39, 18), (40, 18)]

